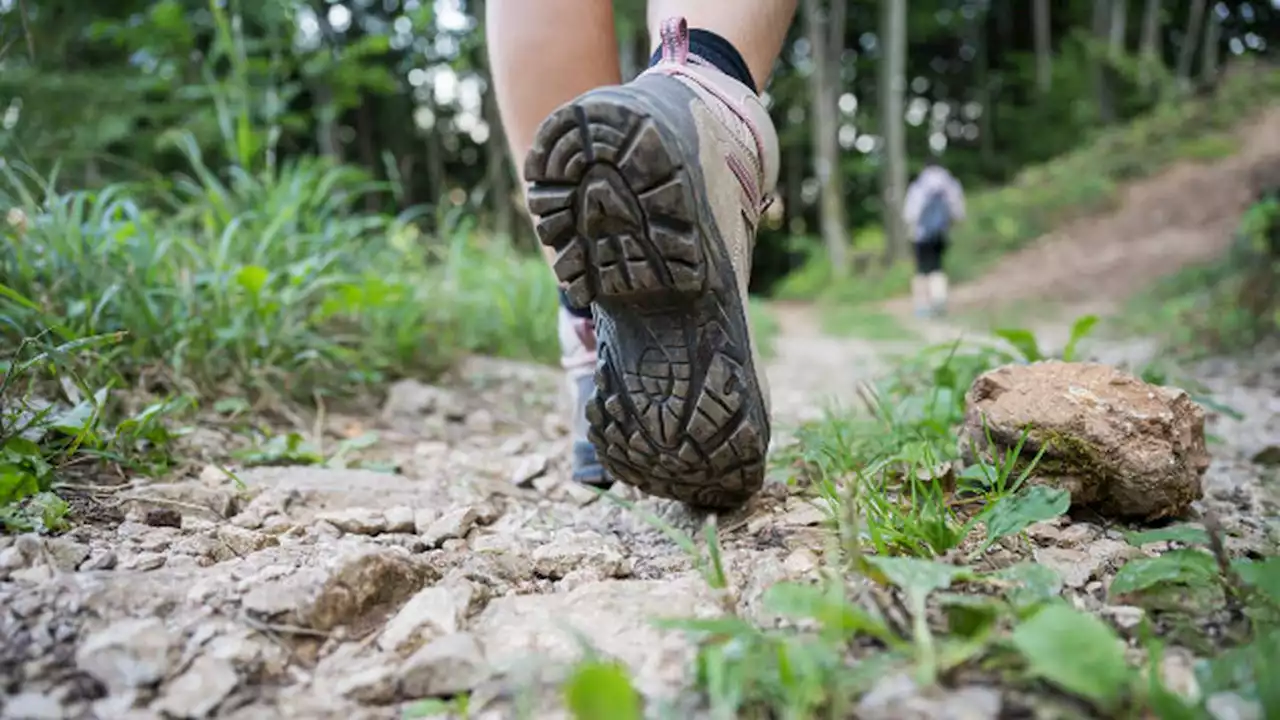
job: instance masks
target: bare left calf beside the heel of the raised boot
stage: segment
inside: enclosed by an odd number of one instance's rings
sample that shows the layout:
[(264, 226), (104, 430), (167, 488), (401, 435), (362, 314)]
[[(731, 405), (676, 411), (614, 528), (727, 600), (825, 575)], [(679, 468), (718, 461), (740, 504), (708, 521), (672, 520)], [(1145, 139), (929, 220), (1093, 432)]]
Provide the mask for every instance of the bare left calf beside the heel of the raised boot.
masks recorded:
[[(539, 123), (579, 95), (622, 82), (613, 5), (600, 0), (489, 0), (485, 42), (516, 173)], [(521, 183), (524, 187), (524, 183)], [(556, 252), (545, 249), (547, 258)]]

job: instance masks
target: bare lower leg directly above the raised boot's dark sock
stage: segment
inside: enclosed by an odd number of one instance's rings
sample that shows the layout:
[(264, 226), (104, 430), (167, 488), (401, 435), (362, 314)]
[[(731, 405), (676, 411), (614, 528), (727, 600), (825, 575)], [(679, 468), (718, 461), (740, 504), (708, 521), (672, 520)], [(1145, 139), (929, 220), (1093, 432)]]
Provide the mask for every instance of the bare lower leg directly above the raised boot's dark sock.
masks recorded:
[(795, 12), (796, 0), (649, 0), (650, 45), (658, 46), (662, 20), (684, 15), (689, 27), (709, 29), (728, 40), (746, 60), (755, 87), (763, 88)]

